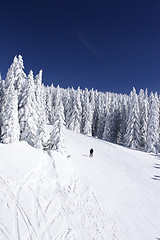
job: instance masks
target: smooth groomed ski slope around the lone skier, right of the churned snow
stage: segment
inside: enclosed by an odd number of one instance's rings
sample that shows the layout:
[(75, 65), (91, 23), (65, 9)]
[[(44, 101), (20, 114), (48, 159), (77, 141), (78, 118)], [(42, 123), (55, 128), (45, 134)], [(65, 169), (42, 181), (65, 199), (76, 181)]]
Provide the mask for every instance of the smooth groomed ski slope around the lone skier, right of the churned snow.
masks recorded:
[[(157, 239), (160, 157), (69, 131), (66, 138), (74, 168), (90, 182), (98, 201), (114, 219), (117, 239)], [(91, 147), (95, 149), (93, 159), (87, 157)]]

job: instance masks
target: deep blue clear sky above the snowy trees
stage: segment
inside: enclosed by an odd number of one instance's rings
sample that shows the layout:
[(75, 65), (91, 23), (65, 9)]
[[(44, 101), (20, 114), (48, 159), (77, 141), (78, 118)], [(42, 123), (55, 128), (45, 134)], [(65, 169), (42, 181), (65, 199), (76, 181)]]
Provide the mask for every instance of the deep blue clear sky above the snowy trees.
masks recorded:
[(1, 1), (0, 72), (15, 55), (45, 85), (160, 93), (160, 0)]

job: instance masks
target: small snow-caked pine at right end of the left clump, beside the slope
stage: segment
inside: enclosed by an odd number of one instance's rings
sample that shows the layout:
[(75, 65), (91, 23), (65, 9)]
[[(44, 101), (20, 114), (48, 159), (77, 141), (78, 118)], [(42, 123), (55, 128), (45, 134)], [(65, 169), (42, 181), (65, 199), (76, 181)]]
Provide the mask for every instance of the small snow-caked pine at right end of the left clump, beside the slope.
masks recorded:
[(64, 108), (61, 99), (57, 102), (58, 108), (55, 111), (53, 130), (50, 136), (49, 148), (58, 152), (65, 152), (64, 144)]

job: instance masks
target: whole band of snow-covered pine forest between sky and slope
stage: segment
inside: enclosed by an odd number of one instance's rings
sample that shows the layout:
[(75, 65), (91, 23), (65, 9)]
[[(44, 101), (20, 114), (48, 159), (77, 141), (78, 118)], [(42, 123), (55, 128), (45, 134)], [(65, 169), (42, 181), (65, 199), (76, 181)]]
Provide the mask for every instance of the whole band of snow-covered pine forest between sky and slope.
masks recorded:
[[(160, 100), (135, 88), (129, 95), (44, 86), (42, 70), (24, 72), (16, 56), (0, 77), (0, 142), (27, 141), (36, 148), (65, 151), (64, 127), (123, 146), (159, 151)], [(47, 125), (52, 132), (47, 133)]]

